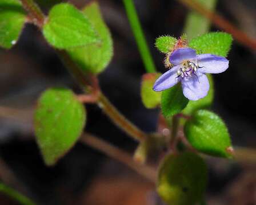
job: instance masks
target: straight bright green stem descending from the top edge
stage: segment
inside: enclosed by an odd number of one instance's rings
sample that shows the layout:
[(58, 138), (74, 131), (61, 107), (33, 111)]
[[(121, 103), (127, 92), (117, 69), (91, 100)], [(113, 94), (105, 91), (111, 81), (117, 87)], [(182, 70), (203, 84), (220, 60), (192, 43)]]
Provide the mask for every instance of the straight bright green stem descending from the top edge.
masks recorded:
[(139, 22), (133, 0), (123, 0), (123, 4), (125, 5), (127, 18), (129, 19), (131, 30), (135, 36), (135, 40), (137, 42), (137, 46), (141, 54), (145, 69), (149, 73), (156, 72), (155, 64), (150, 54), (149, 47), (147, 46), (146, 38), (143, 34), (141, 23)]

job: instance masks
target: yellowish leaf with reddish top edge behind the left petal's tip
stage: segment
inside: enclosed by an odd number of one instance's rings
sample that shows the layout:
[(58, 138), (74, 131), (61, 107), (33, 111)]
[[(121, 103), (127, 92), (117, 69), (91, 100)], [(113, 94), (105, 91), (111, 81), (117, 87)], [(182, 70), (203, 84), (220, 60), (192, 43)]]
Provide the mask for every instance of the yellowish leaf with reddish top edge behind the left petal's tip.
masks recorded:
[(141, 99), (146, 108), (152, 109), (157, 107), (161, 102), (161, 93), (153, 91), (155, 80), (161, 73), (146, 73), (142, 76)]

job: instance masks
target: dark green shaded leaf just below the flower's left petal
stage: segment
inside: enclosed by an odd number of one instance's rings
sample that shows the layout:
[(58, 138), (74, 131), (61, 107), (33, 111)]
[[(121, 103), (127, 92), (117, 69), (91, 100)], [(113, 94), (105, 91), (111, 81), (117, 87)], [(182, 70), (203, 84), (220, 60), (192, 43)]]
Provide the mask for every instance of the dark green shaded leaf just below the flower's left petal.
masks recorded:
[(189, 100), (183, 95), (181, 83), (162, 92), (161, 109), (165, 117), (180, 113), (187, 103)]

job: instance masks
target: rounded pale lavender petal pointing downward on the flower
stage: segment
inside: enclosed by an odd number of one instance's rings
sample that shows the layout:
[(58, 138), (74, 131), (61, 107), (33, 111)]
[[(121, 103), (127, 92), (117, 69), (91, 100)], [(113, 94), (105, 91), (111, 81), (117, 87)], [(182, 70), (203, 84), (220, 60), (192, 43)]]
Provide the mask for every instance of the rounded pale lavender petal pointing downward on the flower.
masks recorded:
[(209, 91), (210, 85), (205, 74), (184, 78), (181, 81), (183, 95), (189, 100), (199, 100), (205, 97)]

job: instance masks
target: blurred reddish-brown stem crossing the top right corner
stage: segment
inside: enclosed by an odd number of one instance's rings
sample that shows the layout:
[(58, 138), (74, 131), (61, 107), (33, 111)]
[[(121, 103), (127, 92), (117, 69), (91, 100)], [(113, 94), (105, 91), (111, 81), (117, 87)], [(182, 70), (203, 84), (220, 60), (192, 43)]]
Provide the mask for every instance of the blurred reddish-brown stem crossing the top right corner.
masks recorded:
[(226, 32), (229, 32), (233, 35), (239, 43), (250, 48), (251, 50), (256, 50), (256, 40), (247, 36), (244, 32), (238, 30), (233, 24), (229, 23), (225, 18), (221, 17), (219, 14), (213, 13), (213, 11), (206, 9), (200, 3), (194, 0), (178, 0), (183, 3), (183, 5), (197, 11), (199, 14), (202, 14), (206, 18), (210, 19), (216, 26), (223, 29)]

